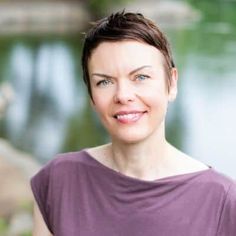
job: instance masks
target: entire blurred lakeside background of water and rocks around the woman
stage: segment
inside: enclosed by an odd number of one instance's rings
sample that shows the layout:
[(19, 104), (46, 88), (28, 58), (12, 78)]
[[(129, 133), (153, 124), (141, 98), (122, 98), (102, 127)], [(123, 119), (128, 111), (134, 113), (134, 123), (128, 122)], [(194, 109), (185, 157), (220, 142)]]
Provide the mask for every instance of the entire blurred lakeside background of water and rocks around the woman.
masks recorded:
[(41, 165), (109, 140), (82, 82), (81, 47), (89, 22), (124, 8), (172, 45), (179, 94), (167, 139), (236, 178), (235, 0), (0, 0), (0, 235), (31, 235), (29, 178)]

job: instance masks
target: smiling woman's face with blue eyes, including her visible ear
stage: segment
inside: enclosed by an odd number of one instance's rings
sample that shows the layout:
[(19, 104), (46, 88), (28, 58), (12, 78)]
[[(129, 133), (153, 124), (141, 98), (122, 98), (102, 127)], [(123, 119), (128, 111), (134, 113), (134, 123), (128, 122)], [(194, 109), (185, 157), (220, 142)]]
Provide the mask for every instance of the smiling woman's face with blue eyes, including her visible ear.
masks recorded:
[(113, 141), (164, 138), (168, 102), (177, 93), (176, 69), (168, 89), (164, 65), (158, 49), (137, 41), (103, 42), (94, 50), (88, 64), (93, 106)]

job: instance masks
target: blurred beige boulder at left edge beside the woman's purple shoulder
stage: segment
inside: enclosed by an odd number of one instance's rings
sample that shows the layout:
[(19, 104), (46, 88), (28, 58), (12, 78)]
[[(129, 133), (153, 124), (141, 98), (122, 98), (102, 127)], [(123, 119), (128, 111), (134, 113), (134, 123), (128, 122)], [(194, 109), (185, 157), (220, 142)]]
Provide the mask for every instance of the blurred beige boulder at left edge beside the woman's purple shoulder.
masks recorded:
[(16, 212), (30, 210), (30, 177), (40, 168), (28, 154), (0, 139), (0, 217), (10, 219)]

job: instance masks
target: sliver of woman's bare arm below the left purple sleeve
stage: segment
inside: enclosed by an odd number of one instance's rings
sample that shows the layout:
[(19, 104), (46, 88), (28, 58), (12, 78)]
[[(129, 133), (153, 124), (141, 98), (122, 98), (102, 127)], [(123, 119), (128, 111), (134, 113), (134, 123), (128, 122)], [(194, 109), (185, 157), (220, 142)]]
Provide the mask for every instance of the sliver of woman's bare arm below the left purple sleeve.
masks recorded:
[(53, 236), (44, 222), (42, 214), (36, 202), (34, 202), (34, 218), (33, 218), (33, 236)]

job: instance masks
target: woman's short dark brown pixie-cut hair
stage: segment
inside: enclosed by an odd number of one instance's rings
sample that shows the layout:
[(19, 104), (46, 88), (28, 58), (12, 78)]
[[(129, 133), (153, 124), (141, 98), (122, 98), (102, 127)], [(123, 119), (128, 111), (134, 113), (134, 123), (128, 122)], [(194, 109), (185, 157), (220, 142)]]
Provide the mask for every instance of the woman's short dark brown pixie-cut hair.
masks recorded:
[(141, 13), (117, 12), (94, 23), (87, 32), (82, 51), (83, 80), (92, 98), (88, 62), (93, 50), (102, 42), (135, 40), (157, 48), (164, 56), (168, 74), (175, 67), (169, 43), (157, 25)]

